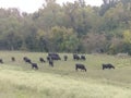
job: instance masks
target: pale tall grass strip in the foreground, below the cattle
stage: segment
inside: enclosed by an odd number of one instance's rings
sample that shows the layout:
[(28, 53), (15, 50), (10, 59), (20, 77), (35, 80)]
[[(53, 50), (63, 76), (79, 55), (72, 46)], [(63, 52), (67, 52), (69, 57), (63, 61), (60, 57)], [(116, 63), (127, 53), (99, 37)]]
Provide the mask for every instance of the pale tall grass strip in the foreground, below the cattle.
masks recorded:
[[(131, 89), (35, 71), (1, 70), (0, 91), (12, 98), (130, 98)], [(4, 98), (2, 95), (2, 98)], [(36, 96), (37, 95), (37, 96)], [(11, 98), (10, 96), (10, 98)], [(7, 97), (5, 97), (7, 98)]]

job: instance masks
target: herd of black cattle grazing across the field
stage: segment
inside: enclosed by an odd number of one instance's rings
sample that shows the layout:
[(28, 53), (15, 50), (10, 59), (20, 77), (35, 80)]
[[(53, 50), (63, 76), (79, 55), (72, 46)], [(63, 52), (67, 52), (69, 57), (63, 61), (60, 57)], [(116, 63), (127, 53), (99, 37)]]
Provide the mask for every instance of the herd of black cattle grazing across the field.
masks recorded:
[[(61, 58), (59, 57), (58, 53), (48, 53), (47, 56), (47, 62), (49, 63), (50, 66), (53, 68), (53, 61), (55, 60), (61, 60)], [(68, 56), (63, 56), (63, 60), (67, 61), (68, 60)], [(76, 53), (73, 54), (73, 60), (86, 60), (85, 56), (79, 56)], [(12, 62), (15, 62), (15, 58), (12, 57), (11, 58), (11, 61)], [(35, 70), (38, 70), (38, 65), (37, 63), (34, 63), (31, 59), (28, 59), (27, 57), (24, 57), (23, 58), (23, 61), (26, 62), (26, 63), (29, 63), (32, 65), (32, 69), (35, 69)], [(45, 63), (46, 60), (44, 58), (39, 58), (39, 61), (41, 63)], [(0, 63), (3, 63), (3, 60), (0, 59)], [(85, 71), (86, 72), (86, 68), (84, 64), (81, 64), (81, 63), (76, 63), (75, 64), (75, 71), (78, 70), (81, 70), (81, 71)], [(105, 69), (115, 69), (115, 66), (110, 63), (107, 63), (107, 64), (102, 64), (102, 69), (105, 70)]]

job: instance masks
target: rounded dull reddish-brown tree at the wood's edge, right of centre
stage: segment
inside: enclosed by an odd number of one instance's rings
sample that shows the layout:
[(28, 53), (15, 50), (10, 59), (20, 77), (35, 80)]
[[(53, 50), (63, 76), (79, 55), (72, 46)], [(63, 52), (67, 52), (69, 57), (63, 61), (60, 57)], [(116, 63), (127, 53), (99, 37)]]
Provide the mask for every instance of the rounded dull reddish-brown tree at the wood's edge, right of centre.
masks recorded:
[(106, 51), (107, 39), (106, 36), (99, 34), (90, 33), (83, 38), (83, 44), (87, 52), (97, 52), (99, 50)]

